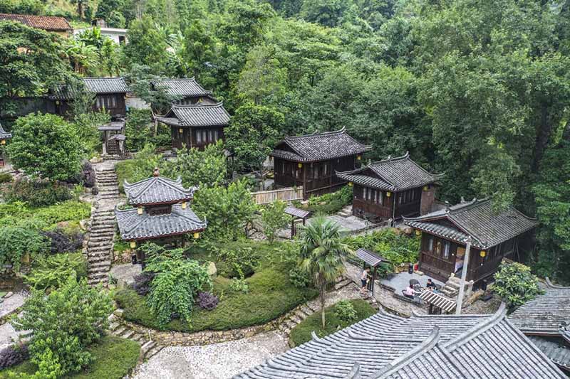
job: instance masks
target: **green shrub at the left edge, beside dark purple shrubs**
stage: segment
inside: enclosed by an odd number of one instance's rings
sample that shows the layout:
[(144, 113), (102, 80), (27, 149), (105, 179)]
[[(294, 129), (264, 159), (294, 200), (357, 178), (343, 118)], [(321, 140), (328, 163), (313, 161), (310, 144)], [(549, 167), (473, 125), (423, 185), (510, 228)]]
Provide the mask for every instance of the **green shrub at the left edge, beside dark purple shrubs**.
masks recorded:
[(25, 255), (33, 261), (45, 255), (48, 249), (48, 239), (38, 230), (6, 226), (0, 233), (0, 270), (4, 270), (6, 265), (11, 265), (12, 271), (19, 272)]

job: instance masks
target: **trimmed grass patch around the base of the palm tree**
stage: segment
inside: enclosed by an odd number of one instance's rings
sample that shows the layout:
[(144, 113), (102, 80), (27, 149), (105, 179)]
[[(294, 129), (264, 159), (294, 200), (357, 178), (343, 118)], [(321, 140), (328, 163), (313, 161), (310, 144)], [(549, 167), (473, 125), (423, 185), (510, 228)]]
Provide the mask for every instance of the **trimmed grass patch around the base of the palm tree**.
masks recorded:
[(351, 300), (351, 303), (356, 310), (356, 320), (348, 323), (341, 321), (341, 319), (338, 319), (336, 314), (334, 314), (334, 305), (328, 306), (328, 308), (325, 310), (325, 329), (321, 329), (321, 312), (317, 311), (301, 321), (293, 329), (291, 329), (291, 335), (289, 338), (295, 344), (295, 346), (299, 346), (302, 343), (311, 341), (312, 331), (314, 331), (318, 337), (328, 336), (331, 333), (346, 328), (346, 326), (355, 324), (358, 321), (373, 316), (377, 312), (363, 299)]

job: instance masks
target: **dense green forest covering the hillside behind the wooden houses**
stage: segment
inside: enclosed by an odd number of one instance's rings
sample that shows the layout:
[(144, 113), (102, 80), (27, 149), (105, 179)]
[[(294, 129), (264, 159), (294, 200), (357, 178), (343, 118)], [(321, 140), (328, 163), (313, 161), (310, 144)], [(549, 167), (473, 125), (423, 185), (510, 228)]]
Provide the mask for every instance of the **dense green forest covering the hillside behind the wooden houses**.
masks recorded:
[(346, 127), (373, 145), (367, 159), (410, 151), (444, 172), (444, 201), (536, 215), (530, 263), (570, 280), (570, 1), (72, 1), (0, 0), (0, 12), (104, 18), (129, 43), (0, 30), (4, 67), (9, 36), (42, 51), (17, 75), (0, 68), (1, 97), (74, 75), (195, 76), (234, 115), (242, 169), (284, 135)]

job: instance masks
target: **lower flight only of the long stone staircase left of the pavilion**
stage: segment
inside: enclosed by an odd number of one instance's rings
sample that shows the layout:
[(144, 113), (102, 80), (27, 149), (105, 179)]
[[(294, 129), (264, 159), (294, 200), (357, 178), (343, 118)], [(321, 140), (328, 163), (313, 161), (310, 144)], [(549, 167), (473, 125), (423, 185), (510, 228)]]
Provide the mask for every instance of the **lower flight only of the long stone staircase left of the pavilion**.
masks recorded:
[(115, 213), (113, 209), (95, 210), (92, 215), (87, 242), (88, 284), (109, 282), (109, 270), (113, 261), (113, 237)]

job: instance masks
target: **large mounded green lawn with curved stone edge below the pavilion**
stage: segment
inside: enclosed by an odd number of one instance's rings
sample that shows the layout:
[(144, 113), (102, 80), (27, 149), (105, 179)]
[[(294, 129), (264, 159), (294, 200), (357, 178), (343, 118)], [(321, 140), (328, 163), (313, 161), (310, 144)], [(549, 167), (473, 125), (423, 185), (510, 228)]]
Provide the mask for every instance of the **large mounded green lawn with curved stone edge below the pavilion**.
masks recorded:
[[(230, 289), (231, 279), (218, 276), (214, 279), (213, 292), (219, 297), (216, 309), (206, 311), (195, 308), (192, 310), (192, 322), (175, 319), (160, 327), (150, 312), (145, 298), (131, 289), (123, 289), (115, 294), (115, 300), (124, 309), (124, 318), (153, 329), (171, 331), (202, 331), (237, 329), (244, 326), (264, 324), (276, 319), (286, 312), (316, 297), (315, 289), (297, 288), (289, 280), (290, 264), (279, 258), (281, 243), (269, 245), (266, 242), (239, 241), (228, 242), (230, 247), (252, 247), (259, 254), (260, 264), (254, 274), (246, 279), (249, 292), (236, 292)], [(199, 261), (208, 257), (204, 252), (194, 256)], [(219, 262), (216, 262), (218, 265)], [(219, 267), (221, 267), (221, 263)]]

